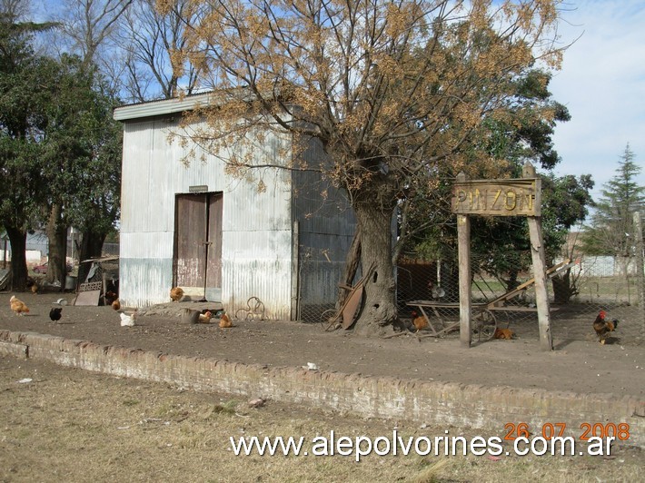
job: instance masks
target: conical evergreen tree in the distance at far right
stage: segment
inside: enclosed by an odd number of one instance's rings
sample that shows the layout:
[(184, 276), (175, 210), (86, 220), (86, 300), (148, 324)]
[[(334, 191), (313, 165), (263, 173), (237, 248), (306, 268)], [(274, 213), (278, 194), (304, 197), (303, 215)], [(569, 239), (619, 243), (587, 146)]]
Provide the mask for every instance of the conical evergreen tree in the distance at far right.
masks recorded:
[(620, 156), (617, 174), (603, 185), (602, 197), (582, 236), (582, 249), (589, 255), (626, 258), (633, 254), (633, 213), (645, 207), (645, 186), (635, 181), (640, 173), (635, 157), (628, 143)]

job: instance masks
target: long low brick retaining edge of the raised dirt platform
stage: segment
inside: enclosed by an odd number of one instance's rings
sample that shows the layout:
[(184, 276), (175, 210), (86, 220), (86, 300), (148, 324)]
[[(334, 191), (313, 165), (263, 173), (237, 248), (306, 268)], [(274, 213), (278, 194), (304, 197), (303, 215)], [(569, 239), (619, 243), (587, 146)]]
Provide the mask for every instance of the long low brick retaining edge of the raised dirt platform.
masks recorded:
[(504, 425), (509, 422), (525, 422), (532, 429), (547, 422), (565, 422), (571, 429), (568, 436), (576, 439), (581, 435), (582, 423), (627, 422), (630, 443), (645, 447), (645, 401), (635, 397), (269, 368), (9, 330), (0, 330), (0, 354), (196, 390), (337, 409), (365, 417), (485, 429), (501, 437), (506, 433)]

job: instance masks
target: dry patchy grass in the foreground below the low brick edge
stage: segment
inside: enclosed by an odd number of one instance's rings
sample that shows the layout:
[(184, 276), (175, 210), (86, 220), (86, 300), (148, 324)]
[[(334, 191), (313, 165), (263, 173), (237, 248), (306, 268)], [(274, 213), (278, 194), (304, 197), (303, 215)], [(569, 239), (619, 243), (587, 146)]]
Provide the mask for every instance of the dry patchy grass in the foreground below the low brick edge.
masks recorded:
[[(18, 380), (31, 378), (31, 382)], [(0, 481), (642, 481), (645, 454), (610, 458), (472, 455), (233, 455), (229, 437), (442, 436), (449, 428), (361, 419), (196, 393), (35, 360), (0, 357)], [(472, 438), (473, 431), (450, 428)], [(485, 435), (482, 437), (503, 435)], [(505, 446), (504, 449), (509, 449)]]

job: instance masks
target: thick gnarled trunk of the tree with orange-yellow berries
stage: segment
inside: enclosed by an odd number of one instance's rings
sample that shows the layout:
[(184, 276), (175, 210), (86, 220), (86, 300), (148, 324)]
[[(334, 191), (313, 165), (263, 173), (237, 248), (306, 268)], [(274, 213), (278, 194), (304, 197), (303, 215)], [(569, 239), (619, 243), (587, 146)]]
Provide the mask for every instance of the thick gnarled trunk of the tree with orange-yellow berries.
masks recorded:
[(365, 281), (362, 311), (354, 331), (362, 335), (382, 335), (392, 331), (396, 320), (396, 281), (392, 265), (392, 210), (378, 202), (354, 205), (361, 237), (363, 274), (373, 267)]

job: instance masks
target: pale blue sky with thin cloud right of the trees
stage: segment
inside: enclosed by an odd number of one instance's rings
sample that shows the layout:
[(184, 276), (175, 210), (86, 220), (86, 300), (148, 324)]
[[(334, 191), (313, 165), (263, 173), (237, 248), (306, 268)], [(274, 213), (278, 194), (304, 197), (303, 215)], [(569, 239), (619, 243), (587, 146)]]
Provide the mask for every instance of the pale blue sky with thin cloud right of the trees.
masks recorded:
[(569, 0), (562, 41), (571, 43), (551, 81), (555, 100), (571, 113), (556, 127), (558, 174), (593, 176), (594, 198), (616, 173), (630, 143), (645, 185), (645, 2)]

